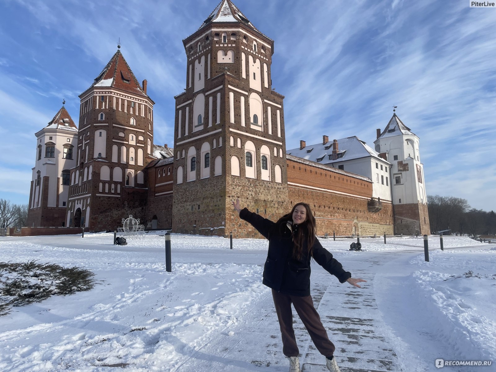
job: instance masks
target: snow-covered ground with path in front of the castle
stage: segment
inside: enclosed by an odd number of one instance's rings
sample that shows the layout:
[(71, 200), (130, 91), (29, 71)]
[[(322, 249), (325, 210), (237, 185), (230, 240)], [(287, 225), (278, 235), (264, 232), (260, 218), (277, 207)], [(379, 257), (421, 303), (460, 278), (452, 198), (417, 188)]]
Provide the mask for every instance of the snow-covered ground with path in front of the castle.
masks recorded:
[[(83, 266), (99, 284), (0, 317), (0, 371), (287, 371), (270, 290), (267, 241), (163, 233), (114, 246), (113, 234), (0, 238), (0, 261)], [(322, 239), (362, 289), (312, 267), (312, 296), (343, 372), (438, 371), (436, 359), (492, 361), (496, 371), (496, 245), (465, 237)], [(470, 272), (471, 273), (470, 273)], [(467, 273), (464, 275), (464, 273)], [(325, 371), (297, 316), (304, 371)]]

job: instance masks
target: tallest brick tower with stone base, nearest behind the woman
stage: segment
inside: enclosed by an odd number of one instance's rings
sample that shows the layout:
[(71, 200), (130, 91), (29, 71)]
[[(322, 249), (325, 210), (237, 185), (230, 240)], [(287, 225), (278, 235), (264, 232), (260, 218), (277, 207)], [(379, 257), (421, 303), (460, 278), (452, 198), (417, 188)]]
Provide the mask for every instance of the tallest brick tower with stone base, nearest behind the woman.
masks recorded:
[(268, 218), (287, 199), (284, 96), (272, 89), (274, 42), (230, 0), (183, 40), (176, 96), (175, 232), (251, 237), (231, 200)]

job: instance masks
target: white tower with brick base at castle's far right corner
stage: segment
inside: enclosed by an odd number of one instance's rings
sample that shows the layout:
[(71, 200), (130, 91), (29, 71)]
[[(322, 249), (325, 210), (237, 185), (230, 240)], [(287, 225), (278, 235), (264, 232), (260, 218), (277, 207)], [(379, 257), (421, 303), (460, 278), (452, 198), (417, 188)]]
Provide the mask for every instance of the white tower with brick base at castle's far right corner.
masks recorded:
[(377, 129), (375, 150), (388, 153), (396, 234), (431, 234), (424, 166), (420, 162), (419, 137), (396, 113), (381, 132)]

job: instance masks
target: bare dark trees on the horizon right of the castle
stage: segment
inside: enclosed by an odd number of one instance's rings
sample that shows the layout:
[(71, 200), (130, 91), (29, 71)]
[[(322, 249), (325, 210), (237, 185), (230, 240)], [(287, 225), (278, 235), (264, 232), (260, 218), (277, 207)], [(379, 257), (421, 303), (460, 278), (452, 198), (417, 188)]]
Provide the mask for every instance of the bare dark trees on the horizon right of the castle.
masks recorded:
[(452, 234), (496, 235), (496, 213), (471, 208), (467, 199), (427, 195), (431, 234), (451, 230)]

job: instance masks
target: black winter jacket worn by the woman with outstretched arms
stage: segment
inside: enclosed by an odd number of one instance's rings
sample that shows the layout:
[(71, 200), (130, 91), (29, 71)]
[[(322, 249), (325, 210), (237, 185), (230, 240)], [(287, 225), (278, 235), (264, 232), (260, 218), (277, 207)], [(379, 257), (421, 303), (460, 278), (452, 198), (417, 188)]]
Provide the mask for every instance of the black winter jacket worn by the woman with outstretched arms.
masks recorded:
[[(293, 258), (293, 231), (286, 222), (275, 223), (244, 208), (240, 217), (249, 222), (269, 241), (269, 250), (263, 269), (263, 284), (290, 296), (310, 296), (310, 256), (307, 244), (303, 258)], [(313, 259), (341, 283), (351, 278), (351, 273), (332, 257), (332, 254), (315, 239)]]

